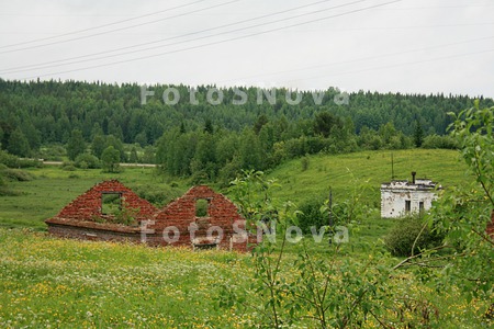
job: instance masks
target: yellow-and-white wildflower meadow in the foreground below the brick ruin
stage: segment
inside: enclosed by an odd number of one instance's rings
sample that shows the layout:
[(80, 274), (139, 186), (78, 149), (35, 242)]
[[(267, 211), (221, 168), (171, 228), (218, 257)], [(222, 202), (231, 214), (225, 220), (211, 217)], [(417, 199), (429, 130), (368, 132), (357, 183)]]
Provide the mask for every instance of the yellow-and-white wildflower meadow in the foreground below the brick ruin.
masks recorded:
[[(296, 248), (301, 246), (289, 246), (280, 269), (288, 286), (300, 277)], [(397, 261), (377, 250), (351, 257), (346, 254), (349, 249), (336, 260), (335, 269), (341, 271), (333, 273), (335, 287), (351, 280), (343, 270), (351, 263), (363, 269)], [(250, 307), (261, 300), (252, 290), (252, 262), (250, 254), (235, 252), (64, 240), (27, 229), (0, 229), (0, 327), (260, 328), (263, 315)], [(380, 316), (388, 324), (487, 328), (484, 303), (469, 302), (458, 291), (437, 293), (411, 272), (388, 274), (393, 279), (379, 287), (382, 298), (393, 296), (391, 304), (380, 302), (388, 306)], [(364, 273), (369, 282), (378, 275)], [(299, 321), (289, 327), (313, 328), (311, 316), (300, 311)], [(370, 318), (363, 327), (381, 326)]]

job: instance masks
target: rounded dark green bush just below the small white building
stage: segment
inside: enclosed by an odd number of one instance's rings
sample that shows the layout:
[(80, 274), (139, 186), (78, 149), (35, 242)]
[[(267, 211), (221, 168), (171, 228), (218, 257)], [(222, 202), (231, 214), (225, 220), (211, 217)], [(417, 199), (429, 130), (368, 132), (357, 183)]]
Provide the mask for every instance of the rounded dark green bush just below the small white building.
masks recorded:
[[(397, 219), (395, 226), (384, 238), (386, 248), (393, 256), (408, 257), (412, 254), (414, 243), (414, 253), (418, 253), (420, 249), (439, 246), (442, 237), (431, 232), (427, 226), (424, 230), (423, 228), (424, 223), (420, 216), (408, 216)], [(417, 241), (415, 242), (415, 240)]]

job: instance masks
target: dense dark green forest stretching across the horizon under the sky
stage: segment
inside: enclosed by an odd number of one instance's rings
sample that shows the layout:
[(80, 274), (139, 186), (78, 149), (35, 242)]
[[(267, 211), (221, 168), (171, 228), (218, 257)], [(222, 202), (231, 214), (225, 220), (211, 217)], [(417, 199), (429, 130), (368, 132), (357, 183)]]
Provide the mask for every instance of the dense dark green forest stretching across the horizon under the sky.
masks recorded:
[[(180, 101), (166, 104), (172, 87)], [(9, 81), (0, 79), (1, 149), (19, 157), (45, 157), (46, 146), (68, 148), (100, 158), (113, 146), (122, 161), (164, 164), (173, 175), (195, 181), (228, 179), (239, 169), (273, 168), (283, 160), (311, 154), (359, 149), (400, 149), (413, 146), (454, 148), (446, 135), (448, 112), (473, 106), (473, 98), (444, 94), (351, 92), (348, 104), (335, 102), (338, 89), (324, 91), (321, 105), (310, 91), (299, 104), (289, 104), (287, 89), (274, 90), (276, 102), (258, 103), (258, 89), (242, 88), (246, 103), (235, 105), (234, 89), (221, 89), (223, 101), (213, 105), (206, 94), (213, 86), (148, 86), (153, 97), (142, 104), (137, 83), (108, 84), (81, 81)], [(481, 106), (492, 99), (480, 98)], [(71, 140), (72, 139), (72, 140)], [(70, 149), (82, 143), (85, 148)], [(132, 152), (123, 144), (135, 145)], [(136, 151), (136, 148), (139, 151)], [(48, 147), (48, 149), (50, 149)], [(143, 151), (146, 150), (146, 151)], [(132, 159), (131, 159), (132, 158)]]

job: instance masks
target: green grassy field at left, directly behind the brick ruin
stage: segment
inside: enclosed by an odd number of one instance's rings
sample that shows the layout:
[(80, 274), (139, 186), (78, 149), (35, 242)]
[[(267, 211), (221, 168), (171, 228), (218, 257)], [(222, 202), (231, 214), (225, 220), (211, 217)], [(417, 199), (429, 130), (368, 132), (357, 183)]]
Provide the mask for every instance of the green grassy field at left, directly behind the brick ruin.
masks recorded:
[[(11, 182), (16, 196), (0, 196), (0, 226), (46, 228), (44, 220), (55, 216), (65, 205), (94, 184), (117, 179), (131, 189), (150, 186), (171, 201), (187, 191), (183, 181), (170, 182), (153, 168), (125, 168), (121, 173), (103, 173), (99, 169), (64, 171), (57, 166), (29, 169), (35, 179)], [(168, 182), (168, 183), (167, 183)], [(177, 188), (170, 188), (170, 183)]]

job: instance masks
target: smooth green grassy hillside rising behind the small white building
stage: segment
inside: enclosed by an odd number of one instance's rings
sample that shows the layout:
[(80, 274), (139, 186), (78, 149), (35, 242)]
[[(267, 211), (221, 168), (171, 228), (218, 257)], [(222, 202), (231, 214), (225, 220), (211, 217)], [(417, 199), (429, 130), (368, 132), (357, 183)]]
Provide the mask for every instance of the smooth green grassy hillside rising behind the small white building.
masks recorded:
[[(310, 198), (327, 198), (329, 186), (335, 201), (345, 200), (356, 185), (368, 188), (363, 197), (373, 207), (380, 206), (380, 184), (391, 180), (391, 154), (395, 179), (428, 178), (442, 184), (458, 185), (469, 180), (467, 166), (454, 150), (409, 149), (362, 151), (339, 156), (310, 156), (303, 170), (303, 159), (289, 161), (272, 173), (282, 188), (276, 196), (302, 203)], [(305, 160), (306, 161), (306, 160)]]

